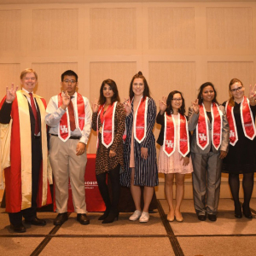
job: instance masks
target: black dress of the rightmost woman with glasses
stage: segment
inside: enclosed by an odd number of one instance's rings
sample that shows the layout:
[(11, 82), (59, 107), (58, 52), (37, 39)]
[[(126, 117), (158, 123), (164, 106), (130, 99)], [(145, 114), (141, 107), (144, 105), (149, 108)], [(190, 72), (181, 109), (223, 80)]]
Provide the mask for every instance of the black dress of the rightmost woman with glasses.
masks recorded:
[[(225, 106), (226, 102), (223, 103)], [(253, 141), (245, 137), (241, 125), (241, 103), (235, 102), (234, 117), (236, 120), (236, 131), (238, 141), (235, 146), (230, 144), (229, 153), (223, 160), (222, 172), (241, 174), (256, 172), (256, 137)], [(253, 120), (255, 120), (256, 106), (251, 106)]]

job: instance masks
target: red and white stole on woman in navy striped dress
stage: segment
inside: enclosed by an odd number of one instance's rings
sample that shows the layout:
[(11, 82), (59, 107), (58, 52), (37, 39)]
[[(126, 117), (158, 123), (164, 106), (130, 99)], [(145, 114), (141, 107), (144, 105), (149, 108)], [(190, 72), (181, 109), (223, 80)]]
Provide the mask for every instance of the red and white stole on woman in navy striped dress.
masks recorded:
[[(133, 101), (133, 100), (132, 100)], [(143, 96), (138, 104), (133, 121), (134, 138), (138, 143), (142, 143), (147, 133), (148, 97), (143, 100)]]

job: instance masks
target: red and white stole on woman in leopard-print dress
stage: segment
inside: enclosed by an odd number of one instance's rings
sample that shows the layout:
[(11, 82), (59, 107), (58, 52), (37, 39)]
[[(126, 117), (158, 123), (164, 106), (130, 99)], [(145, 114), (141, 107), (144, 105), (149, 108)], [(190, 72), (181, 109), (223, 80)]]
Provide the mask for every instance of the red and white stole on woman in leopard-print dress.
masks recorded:
[[(117, 105), (117, 102), (114, 102), (112, 105), (109, 105), (105, 114), (103, 114), (105, 105), (102, 105), (98, 111), (97, 134), (98, 134), (98, 119), (100, 117), (102, 122), (102, 144), (106, 148), (109, 148), (113, 143), (114, 114), (115, 114), (116, 105)], [(98, 147), (98, 137), (97, 137), (97, 147)]]

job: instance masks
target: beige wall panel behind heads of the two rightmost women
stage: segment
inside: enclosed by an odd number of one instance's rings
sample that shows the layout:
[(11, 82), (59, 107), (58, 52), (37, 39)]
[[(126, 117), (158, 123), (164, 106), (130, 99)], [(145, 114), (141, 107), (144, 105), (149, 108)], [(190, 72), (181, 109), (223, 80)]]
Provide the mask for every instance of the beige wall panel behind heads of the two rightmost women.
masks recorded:
[(245, 94), (249, 92), (249, 84), (253, 84), (253, 62), (208, 62), (208, 80), (218, 92), (218, 102), (223, 103), (229, 98), (231, 79), (240, 79), (245, 86)]

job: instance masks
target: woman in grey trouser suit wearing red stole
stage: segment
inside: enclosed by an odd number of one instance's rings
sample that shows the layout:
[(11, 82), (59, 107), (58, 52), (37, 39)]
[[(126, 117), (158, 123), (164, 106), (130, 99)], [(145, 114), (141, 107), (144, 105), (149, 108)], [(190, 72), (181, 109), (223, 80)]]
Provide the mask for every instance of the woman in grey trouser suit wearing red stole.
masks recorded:
[(216, 221), (222, 160), (229, 146), (229, 124), (217, 92), (210, 82), (201, 84), (189, 108), (189, 131), (193, 131), (191, 156), (194, 172), (194, 206), (198, 219)]

